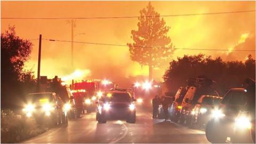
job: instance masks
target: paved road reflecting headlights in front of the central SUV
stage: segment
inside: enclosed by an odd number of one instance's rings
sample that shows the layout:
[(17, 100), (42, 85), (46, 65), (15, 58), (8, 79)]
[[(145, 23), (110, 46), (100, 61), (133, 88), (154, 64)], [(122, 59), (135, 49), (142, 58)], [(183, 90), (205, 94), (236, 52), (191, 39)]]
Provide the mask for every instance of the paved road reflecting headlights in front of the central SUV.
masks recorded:
[(209, 143), (205, 132), (191, 130), (137, 109), (137, 122), (108, 121), (98, 124), (95, 113), (52, 129), (22, 143)]

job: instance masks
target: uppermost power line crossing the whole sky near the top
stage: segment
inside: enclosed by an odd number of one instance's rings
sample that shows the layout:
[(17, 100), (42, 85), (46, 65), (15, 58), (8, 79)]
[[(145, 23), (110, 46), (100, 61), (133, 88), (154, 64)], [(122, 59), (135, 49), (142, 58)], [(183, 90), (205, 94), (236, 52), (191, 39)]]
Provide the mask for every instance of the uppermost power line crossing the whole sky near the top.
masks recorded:
[[(167, 14), (167, 15), (147, 15), (145, 17), (181, 17), (181, 16), (195, 16), (195, 15), (213, 15), (213, 14), (230, 14), (230, 13), (247, 13), (255, 12), (255, 10), (244, 11), (229, 11), (229, 12), (212, 12), (212, 13), (189, 13), (189, 14)], [(18, 17), (3, 17), (1, 19), (30, 19), (30, 20), (58, 20), (58, 19), (125, 19), (125, 18), (139, 18), (140, 16), (127, 17), (66, 17), (66, 18), (18, 18)]]

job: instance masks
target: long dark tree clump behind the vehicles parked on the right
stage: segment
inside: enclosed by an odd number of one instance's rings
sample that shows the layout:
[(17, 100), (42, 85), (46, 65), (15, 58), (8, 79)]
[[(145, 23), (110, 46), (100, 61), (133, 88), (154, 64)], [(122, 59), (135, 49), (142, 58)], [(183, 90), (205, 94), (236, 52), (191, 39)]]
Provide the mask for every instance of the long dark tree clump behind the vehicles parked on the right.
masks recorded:
[(220, 57), (212, 59), (203, 54), (184, 55), (170, 62), (163, 78), (170, 92), (187, 85), (187, 79), (205, 75), (217, 82), (213, 86), (221, 95), (232, 87), (241, 87), (245, 78), (255, 79), (255, 60), (251, 55), (245, 62), (222, 61)]

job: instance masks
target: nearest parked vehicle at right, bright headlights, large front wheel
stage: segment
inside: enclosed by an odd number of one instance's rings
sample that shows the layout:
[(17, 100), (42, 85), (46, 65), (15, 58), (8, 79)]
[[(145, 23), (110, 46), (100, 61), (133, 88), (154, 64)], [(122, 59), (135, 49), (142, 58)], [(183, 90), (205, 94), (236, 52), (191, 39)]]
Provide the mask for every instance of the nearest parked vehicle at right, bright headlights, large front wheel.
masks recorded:
[(244, 139), (244, 136), (250, 135), (250, 130), (255, 127), (251, 125), (250, 116), (243, 111), (246, 103), (245, 93), (245, 89), (234, 88), (225, 94), (219, 107), (212, 111), (211, 120), (206, 124), (205, 134), (208, 141), (224, 143), (227, 137), (234, 143), (248, 140)]

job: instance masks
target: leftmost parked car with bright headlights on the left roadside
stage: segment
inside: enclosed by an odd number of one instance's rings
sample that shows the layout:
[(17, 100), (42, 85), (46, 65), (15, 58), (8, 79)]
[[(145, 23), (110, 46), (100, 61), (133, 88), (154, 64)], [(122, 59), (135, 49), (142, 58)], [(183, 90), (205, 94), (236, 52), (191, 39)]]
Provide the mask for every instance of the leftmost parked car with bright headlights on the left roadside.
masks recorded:
[(60, 97), (53, 92), (30, 93), (22, 109), (27, 117), (34, 117), (38, 123), (61, 125), (68, 123), (68, 114)]

